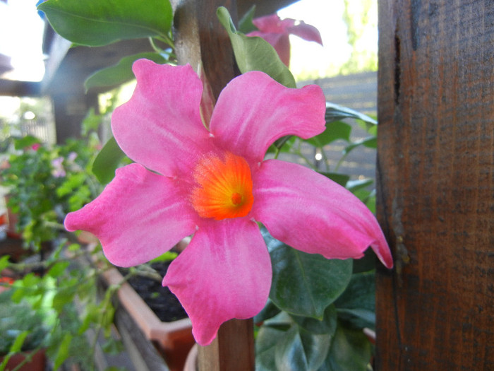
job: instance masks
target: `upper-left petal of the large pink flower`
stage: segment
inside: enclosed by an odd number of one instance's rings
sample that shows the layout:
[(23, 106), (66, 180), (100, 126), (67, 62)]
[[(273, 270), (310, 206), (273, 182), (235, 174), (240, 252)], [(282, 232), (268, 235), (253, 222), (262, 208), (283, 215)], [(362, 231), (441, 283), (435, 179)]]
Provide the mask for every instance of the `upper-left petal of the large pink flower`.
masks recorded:
[(191, 66), (140, 59), (131, 100), (112, 115), (112, 131), (132, 160), (162, 175), (190, 172), (208, 133), (200, 119), (203, 86)]

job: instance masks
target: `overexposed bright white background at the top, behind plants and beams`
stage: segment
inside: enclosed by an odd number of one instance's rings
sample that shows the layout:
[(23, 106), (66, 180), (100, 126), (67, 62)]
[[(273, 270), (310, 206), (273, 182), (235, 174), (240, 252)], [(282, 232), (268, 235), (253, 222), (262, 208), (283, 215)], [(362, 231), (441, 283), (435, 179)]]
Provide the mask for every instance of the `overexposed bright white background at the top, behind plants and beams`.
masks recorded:
[[(13, 67), (0, 78), (43, 78), (44, 20), (36, 11), (37, 1), (0, 0), (0, 54), (10, 58)], [(290, 36), (290, 69), (297, 81), (377, 70), (377, 0), (300, 0), (278, 14), (315, 26), (323, 40), (321, 46)], [(30, 98), (23, 101), (35, 104)], [(0, 97), (0, 118), (11, 122), (22, 115), (20, 102)]]

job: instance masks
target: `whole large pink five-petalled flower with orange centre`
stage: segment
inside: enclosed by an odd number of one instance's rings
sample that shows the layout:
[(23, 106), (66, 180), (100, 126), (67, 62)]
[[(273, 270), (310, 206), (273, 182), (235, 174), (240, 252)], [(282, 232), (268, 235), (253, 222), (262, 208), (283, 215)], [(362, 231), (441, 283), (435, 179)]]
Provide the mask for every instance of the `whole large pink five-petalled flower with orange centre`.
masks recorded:
[(193, 235), (163, 285), (179, 298), (198, 343), (265, 305), (272, 269), (256, 222), (304, 252), (358, 258), (372, 246), (392, 266), (377, 221), (355, 196), (301, 165), (263, 160), (282, 136), (324, 130), (318, 86), (290, 89), (265, 73), (245, 73), (219, 95), (206, 129), (203, 86), (191, 66), (140, 59), (133, 71), (137, 86), (114, 111), (112, 130), (136, 163), (117, 170), (65, 225), (96, 235), (117, 266), (142, 264)]

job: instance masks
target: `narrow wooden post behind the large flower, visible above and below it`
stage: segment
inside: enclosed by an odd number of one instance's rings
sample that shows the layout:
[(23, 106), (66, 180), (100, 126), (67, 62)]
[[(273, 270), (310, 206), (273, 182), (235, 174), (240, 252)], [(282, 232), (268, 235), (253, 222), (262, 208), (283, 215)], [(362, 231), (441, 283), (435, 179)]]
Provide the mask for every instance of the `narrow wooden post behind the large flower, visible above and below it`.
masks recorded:
[[(237, 74), (229, 37), (216, 16), (219, 6), (225, 6), (236, 17), (234, 0), (181, 0), (174, 4), (179, 62), (190, 63), (196, 70), (202, 63), (215, 98)], [(215, 341), (199, 348), (198, 367), (200, 371), (254, 370), (252, 321), (233, 319), (224, 323)]]

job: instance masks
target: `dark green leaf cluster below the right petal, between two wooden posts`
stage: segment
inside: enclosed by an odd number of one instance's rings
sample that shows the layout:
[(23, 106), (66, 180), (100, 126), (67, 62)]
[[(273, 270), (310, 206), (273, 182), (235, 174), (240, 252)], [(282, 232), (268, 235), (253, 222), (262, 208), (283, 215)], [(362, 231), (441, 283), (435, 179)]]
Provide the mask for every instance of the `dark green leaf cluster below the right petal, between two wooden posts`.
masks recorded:
[(352, 259), (299, 252), (262, 232), (274, 272), (270, 299), (254, 318), (256, 370), (367, 370), (372, 349), (362, 329), (375, 327), (372, 264), (360, 271)]

